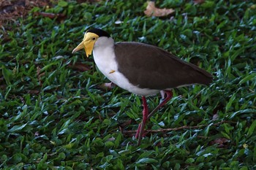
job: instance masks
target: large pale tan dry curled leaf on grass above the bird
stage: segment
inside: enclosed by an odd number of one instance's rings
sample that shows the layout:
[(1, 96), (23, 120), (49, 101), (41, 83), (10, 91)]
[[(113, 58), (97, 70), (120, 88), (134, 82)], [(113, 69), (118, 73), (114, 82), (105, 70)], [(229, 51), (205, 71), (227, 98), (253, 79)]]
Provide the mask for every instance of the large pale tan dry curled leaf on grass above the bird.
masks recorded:
[(144, 11), (144, 13), (148, 16), (154, 16), (154, 17), (164, 17), (166, 15), (170, 15), (173, 12), (175, 12), (174, 9), (170, 8), (170, 9), (160, 9), (155, 7), (155, 3), (154, 1), (148, 1), (148, 6), (146, 7), (146, 10)]

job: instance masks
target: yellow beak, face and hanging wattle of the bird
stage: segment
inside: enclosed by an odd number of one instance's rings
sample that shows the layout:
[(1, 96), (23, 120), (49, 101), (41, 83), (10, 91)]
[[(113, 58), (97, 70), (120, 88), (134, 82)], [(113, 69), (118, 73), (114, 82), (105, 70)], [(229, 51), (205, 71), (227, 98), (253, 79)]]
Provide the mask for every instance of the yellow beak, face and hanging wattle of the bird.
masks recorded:
[(83, 42), (81, 42), (78, 47), (75, 47), (75, 49), (72, 51), (72, 53), (77, 52), (78, 50), (81, 50), (84, 48), (86, 51), (86, 57), (89, 57), (91, 55), (92, 50), (94, 49), (94, 43), (96, 42), (97, 38), (99, 36), (94, 33), (86, 33), (83, 38)]

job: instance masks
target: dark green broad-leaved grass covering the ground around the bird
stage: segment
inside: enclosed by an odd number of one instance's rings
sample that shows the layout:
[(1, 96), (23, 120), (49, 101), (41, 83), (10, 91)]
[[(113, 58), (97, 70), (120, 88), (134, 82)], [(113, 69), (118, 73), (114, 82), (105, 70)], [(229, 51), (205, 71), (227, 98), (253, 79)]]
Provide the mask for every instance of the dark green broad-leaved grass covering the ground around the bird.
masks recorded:
[[(0, 169), (256, 169), (256, 4), (158, 1), (175, 15), (147, 18), (144, 3), (61, 1), (32, 9), (12, 31), (1, 28)], [(147, 125), (198, 127), (148, 134), (139, 147), (123, 134), (138, 128), (140, 96), (99, 88), (108, 80), (92, 57), (72, 54), (91, 26), (116, 42), (157, 45), (211, 72), (209, 87), (173, 90)], [(77, 62), (90, 70), (75, 69)], [(150, 109), (158, 103), (148, 98)]]

